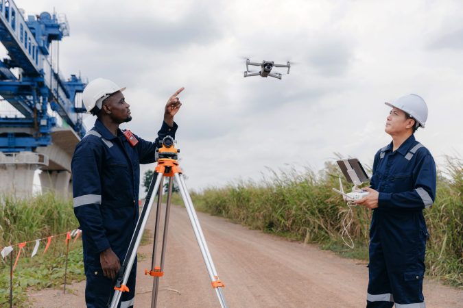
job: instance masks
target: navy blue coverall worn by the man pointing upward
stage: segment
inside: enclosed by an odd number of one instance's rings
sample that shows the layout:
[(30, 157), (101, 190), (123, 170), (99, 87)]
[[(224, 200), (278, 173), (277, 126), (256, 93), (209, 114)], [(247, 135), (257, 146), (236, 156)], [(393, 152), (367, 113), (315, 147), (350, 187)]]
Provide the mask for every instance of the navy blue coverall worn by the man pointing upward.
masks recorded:
[[(87, 307), (106, 307), (114, 281), (104, 277), (99, 253), (111, 248), (123, 262), (139, 217), (140, 164), (155, 162), (156, 145), (177, 125), (163, 123), (155, 142), (139, 141), (131, 146), (122, 131), (112, 135), (100, 120), (75, 147), (72, 158), (74, 213), (82, 229)], [(136, 261), (120, 307), (132, 307)]]

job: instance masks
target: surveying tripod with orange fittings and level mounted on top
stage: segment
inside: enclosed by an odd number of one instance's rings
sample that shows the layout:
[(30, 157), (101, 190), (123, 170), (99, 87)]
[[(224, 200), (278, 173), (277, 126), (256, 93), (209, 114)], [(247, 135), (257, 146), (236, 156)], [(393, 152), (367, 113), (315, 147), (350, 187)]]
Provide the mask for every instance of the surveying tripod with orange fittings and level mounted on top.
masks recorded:
[[(177, 162), (177, 153), (179, 152), (178, 149), (174, 146), (174, 139), (170, 136), (166, 136), (162, 141), (162, 146), (160, 149), (157, 149), (159, 159), (158, 165), (155, 168), (154, 175), (157, 174), (156, 179), (153, 175), (153, 179), (150, 183), (150, 188), (148, 189), (147, 196), (145, 198), (145, 203), (143, 208), (141, 209), (141, 214), (139, 220), (136, 222), (136, 227), (134, 233), (132, 234), (132, 239), (130, 240), (130, 245), (128, 251), (126, 253), (126, 257), (123, 260), (123, 264), (121, 265), (121, 269), (119, 270), (116, 283), (114, 287), (114, 294), (112, 295), (112, 300), (110, 302), (110, 308), (116, 308), (119, 305), (119, 300), (121, 300), (122, 292), (128, 292), (128, 287), (126, 283), (128, 281), (130, 271), (132, 270), (132, 266), (135, 261), (136, 251), (139, 248), (141, 237), (143, 235), (143, 231), (145, 230), (145, 226), (150, 216), (150, 211), (152, 205), (154, 203), (154, 198), (152, 198), (152, 192), (156, 194), (158, 192), (158, 203), (156, 208), (156, 225), (154, 228), (154, 243), (153, 243), (153, 256), (152, 256), (152, 264), (151, 270), (145, 270), (145, 275), (149, 274), (150, 276), (154, 277), (153, 280), (153, 294), (151, 299), (151, 307), (156, 307), (156, 302), (158, 298), (158, 285), (159, 285), (159, 277), (164, 275), (163, 267), (164, 267), (164, 258), (165, 258), (165, 248), (167, 243), (167, 229), (169, 226), (169, 212), (170, 212), (170, 202), (171, 202), (171, 194), (172, 194), (172, 185), (174, 183), (173, 177), (175, 177), (176, 182), (178, 183), (178, 188), (180, 190), (180, 194), (182, 195), (183, 203), (185, 203), (185, 207), (187, 209), (188, 217), (191, 222), (191, 227), (193, 227), (193, 231), (195, 233), (196, 240), (198, 241), (198, 245), (200, 247), (200, 251), (202, 254), (202, 258), (204, 259), (204, 264), (206, 264), (207, 272), (209, 273), (209, 278), (211, 279), (211, 284), (217, 297), (219, 298), (220, 306), (222, 308), (226, 308), (226, 302), (224, 298), (224, 294), (222, 294), (222, 287), (225, 285), (219, 281), (219, 277), (217, 276), (217, 271), (215, 270), (215, 266), (212, 261), (211, 253), (209, 253), (209, 248), (207, 248), (206, 240), (204, 239), (204, 234), (202, 233), (202, 229), (200, 226), (200, 222), (198, 220), (198, 216), (196, 216), (195, 209), (193, 207), (193, 202), (191, 201), (191, 197), (188, 193), (187, 186), (185, 185), (185, 181), (182, 176), (182, 170), (178, 166)], [(161, 264), (160, 266), (155, 266), (156, 264), (156, 250), (158, 247), (158, 231), (159, 231), (159, 220), (161, 216), (161, 203), (162, 203), (162, 192), (163, 192), (163, 177), (169, 177), (169, 185), (167, 190), (167, 205), (165, 208), (165, 222), (164, 222), (164, 232), (163, 232), (163, 242), (162, 242), (162, 249), (161, 249)]]

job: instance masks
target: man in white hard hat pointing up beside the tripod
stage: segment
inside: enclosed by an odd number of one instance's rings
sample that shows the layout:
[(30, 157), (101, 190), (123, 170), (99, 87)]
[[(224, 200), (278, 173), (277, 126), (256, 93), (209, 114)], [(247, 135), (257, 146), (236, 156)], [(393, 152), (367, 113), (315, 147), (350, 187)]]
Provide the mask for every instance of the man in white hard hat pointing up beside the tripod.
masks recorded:
[[(180, 88), (167, 101), (164, 121), (154, 142), (139, 138), (119, 125), (132, 120), (122, 91), (108, 79), (91, 81), (82, 94), (95, 126), (75, 147), (71, 169), (74, 213), (82, 229), (87, 307), (106, 307), (115, 277), (126, 255), (139, 217), (140, 164), (156, 160), (158, 141), (175, 138), (174, 116), (182, 103)], [(120, 307), (132, 307), (136, 262)]]

